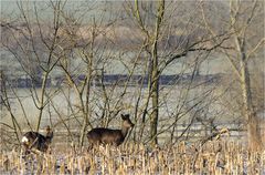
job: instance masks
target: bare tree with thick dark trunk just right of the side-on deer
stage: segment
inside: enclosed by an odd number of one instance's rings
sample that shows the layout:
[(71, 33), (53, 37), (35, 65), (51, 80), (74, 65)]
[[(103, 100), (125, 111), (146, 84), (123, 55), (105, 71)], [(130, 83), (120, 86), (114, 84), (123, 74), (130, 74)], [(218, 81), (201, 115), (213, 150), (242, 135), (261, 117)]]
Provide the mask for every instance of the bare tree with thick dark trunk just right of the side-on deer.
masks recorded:
[[(178, 16), (179, 7), (187, 8), (181, 2), (139, 2), (135, 4), (128, 3), (130, 13), (132, 14), (138, 28), (141, 30), (141, 35), (147, 43), (146, 52), (149, 54), (149, 92), (151, 99), (151, 116), (150, 116), (150, 137), (151, 144), (156, 145), (157, 127), (159, 117), (159, 80), (163, 71), (176, 60), (184, 58), (191, 52), (211, 52), (215, 48), (222, 45), (227, 38), (225, 33), (220, 34), (222, 40), (213, 47), (208, 43), (214, 38), (209, 37), (202, 29), (193, 25), (192, 18), (197, 19), (194, 13), (187, 12), (187, 19)], [(149, 6), (151, 4), (151, 6)], [(189, 7), (189, 6), (188, 6)], [(153, 8), (156, 12), (153, 12)], [(197, 8), (192, 9), (195, 11)], [(184, 9), (187, 10), (187, 9)], [(181, 11), (181, 10), (180, 10)], [(176, 19), (179, 19), (176, 20)], [(195, 20), (194, 20), (195, 21)], [(179, 22), (179, 23), (178, 23)], [(179, 25), (178, 25), (179, 24)], [(173, 32), (179, 28), (183, 28), (180, 32), (179, 40), (172, 39), (176, 37)], [(199, 34), (197, 34), (199, 33)], [(171, 40), (170, 40), (171, 39)], [(173, 42), (172, 42), (173, 40)], [(149, 100), (147, 101), (147, 106)], [(145, 117), (146, 114), (144, 114)]]

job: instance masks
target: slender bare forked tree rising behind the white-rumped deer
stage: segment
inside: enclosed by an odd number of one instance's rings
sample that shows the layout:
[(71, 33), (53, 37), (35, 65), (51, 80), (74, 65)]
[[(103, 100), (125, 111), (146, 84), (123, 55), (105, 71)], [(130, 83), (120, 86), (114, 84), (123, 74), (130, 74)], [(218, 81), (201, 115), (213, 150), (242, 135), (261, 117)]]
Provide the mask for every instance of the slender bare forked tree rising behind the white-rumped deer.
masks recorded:
[[(53, 22), (46, 23), (45, 27), (41, 23), (42, 19), (39, 17), (40, 11), (36, 3), (30, 6), (22, 1), (18, 2), (18, 9), (21, 14), (18, 19), (19, 22), (7, 21), (1, 23), (7, 33), (3, 37), (2, 44), (17, 59), (24, 73), (32, 80), (30, 91), (35, 107), (39, 110), (35, 125), (35, 130), (39, 131), (44, 107), (49, 103), (49, 96), (52, 96), (52, 92), (47, 91), (49, 78), (60, 60), (54, 53), (57, 49), (60, 10), (63, 8), (63, 2), (51, 2)], [(40, 82), (40, 78), (41, 92), (39, 94), (34, 84)]]

